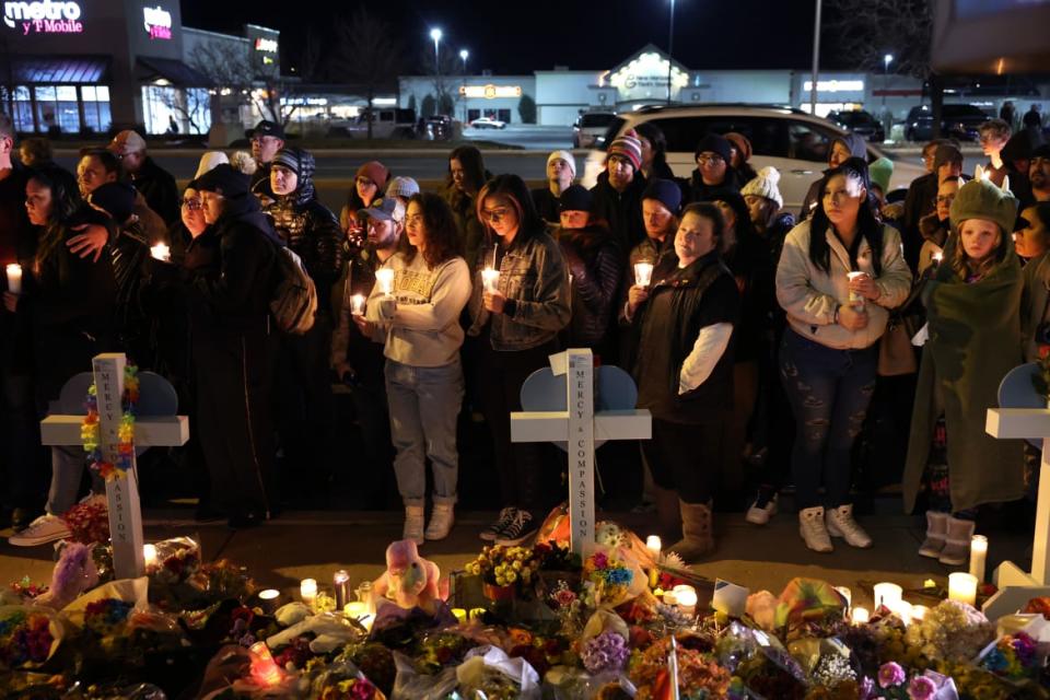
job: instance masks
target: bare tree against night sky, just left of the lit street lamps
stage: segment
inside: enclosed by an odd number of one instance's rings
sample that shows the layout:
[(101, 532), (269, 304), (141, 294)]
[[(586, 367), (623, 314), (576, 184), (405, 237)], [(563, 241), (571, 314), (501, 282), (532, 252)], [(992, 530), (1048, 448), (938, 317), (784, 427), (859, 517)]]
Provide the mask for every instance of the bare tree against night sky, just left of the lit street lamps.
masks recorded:
[(365, 118), (368, 138), (372, 138), (372, 103), (382, 88), (397, 84), (401, 46), (393, 38), (393, 27), (359, 4), (349, 19), (339, 18), (335, 25), (339, 47), (332, 70), (346, 82), (360, 85), (369, 102)]

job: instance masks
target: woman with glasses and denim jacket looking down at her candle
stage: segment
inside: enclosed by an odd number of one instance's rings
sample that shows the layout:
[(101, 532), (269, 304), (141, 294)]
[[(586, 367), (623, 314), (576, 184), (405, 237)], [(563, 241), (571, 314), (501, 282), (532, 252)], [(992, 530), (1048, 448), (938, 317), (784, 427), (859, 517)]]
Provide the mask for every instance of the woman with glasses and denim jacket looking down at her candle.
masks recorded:
[[(486, 184), (478, 195), (478, 219), (487, 236), (475, 268), (467, 332), (479, 339), (477, 386), (492, 431), (502, 506), (481, 538), (517, 544), (535, 532), (542, 514), (544, 463), (539, 445), (511, 443), (510, 413), (522, 409), (528, 375), (547, 366), (558, 350), (558, 334), (572, 313), (569, 271), (517, 175)], [(481, 284), (486, 267), (500, 271), (493, 291)]]

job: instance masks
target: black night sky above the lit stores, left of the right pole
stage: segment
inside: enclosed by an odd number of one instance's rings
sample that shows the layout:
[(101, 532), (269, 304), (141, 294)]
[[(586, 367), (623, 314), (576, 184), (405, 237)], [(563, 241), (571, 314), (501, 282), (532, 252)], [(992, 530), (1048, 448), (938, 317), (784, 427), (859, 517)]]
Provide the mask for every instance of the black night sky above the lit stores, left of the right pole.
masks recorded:
[[(669, 5), (669, 0), (376, 0), (369, 8), (394, 24), (407, 47), (405, 72), (419, 71), (420, 51), (433, 46), (430, 27), (440, 26), (442, 49), (469, 49), (469, 72), (529, 74), (556, 65), (612, 68), (648, 43), (666, 49)], [(331, 7), (317, 0), (182, 3), (187, 26), (235, 32), (248, 22), (280, 30), (283, 72), (294, 66), (306, 27), (323, 32), (330, 24)], [(692, 69), (806, 68), (813, 11), (813, 0), (676, 0), (675, 58)]]

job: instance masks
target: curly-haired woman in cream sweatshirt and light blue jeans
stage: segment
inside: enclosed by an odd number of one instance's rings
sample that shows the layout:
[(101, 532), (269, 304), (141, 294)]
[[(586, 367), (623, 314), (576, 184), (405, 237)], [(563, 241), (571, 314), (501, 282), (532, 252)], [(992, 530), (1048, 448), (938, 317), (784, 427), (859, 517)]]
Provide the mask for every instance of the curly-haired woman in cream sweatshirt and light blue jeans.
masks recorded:
[[(376, 324), (386, 340), (394, 471), (405, 503), (401, 539), (421, 545), (424, 538), (447, 537), (454, 522), (456, 421), (463, 401), (459, 313), (470, 296), (470, 271), (452, 209), (440, 196), (409, 199), (405, 234), (409, 245), (384, 264), (395, 273), (394, 289), (388, 295), (373, 288), (368, 322)], [(428, 459), (434, 494), (424, 532)]]

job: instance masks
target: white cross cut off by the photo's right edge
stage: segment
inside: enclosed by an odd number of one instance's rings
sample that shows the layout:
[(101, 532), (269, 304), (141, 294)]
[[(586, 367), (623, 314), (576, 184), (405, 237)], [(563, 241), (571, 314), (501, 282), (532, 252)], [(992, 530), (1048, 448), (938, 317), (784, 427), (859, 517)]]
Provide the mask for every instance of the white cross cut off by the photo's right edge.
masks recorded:
[(994, 620), (1012, 615), (1035, 597), (1050, 595), (1050, 409), (990, 408), (984, 430), (1001, 440), (1042, 439), (1039, 494), (1036, 500), (1036, 533), (1031, 542), (1031, 572), (1011, 561), (1000, 564), (992, 580), (999, 593), (984, 603), (984, 615)]

